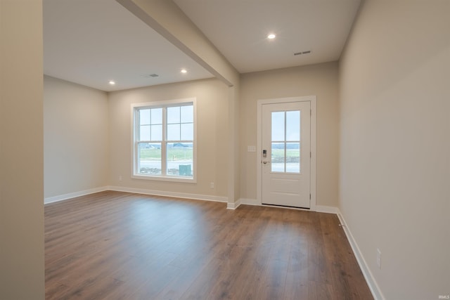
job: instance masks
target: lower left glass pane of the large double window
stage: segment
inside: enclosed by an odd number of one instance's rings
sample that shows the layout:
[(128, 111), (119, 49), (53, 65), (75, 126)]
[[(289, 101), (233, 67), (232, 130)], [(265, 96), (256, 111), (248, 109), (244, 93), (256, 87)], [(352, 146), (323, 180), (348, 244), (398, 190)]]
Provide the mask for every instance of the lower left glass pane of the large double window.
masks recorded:
[(161, 175), (161, 143), (139, 143), (139, 174)]

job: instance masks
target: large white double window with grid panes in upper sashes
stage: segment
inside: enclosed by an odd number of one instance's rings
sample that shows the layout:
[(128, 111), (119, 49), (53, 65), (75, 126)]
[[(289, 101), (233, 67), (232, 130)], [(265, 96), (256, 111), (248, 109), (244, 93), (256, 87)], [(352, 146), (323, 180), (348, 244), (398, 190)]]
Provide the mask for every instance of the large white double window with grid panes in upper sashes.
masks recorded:
[(134, 178), (195, 182), (194, 103), (132, 105)]

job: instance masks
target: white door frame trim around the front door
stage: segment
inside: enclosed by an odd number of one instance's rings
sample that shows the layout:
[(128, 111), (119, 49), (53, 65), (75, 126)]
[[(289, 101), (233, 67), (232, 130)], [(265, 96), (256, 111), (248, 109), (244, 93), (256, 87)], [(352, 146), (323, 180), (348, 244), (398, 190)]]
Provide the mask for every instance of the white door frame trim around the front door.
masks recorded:
[[(311, 174), (310, 174), (310, 211), (316, 211), (316, 96), (261, 99), (257, 101), (257, 203), (262, 204), (262, 105), (275, 103), (305, 102), (311, 103)], [(300, 208), (299, 208), (300, 209)]]

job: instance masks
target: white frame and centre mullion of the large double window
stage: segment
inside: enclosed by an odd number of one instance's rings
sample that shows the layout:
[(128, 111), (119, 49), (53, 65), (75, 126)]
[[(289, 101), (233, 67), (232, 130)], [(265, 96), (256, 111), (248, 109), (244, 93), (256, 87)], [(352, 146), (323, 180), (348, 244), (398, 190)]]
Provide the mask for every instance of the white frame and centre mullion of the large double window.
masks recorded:
[[(185, 99), (176, 99), (176, 100), (164, 100), (158, 102), (148, 102), (148, 103), (131, 103), (131, 178), (136, 179), (146, 179), (152, 181), (173, 181), (173, 182), (182, 182), (182, 183), (197, 183), (197, 105), (196, 98), (185, 98)], [(192, 103), (193, 105), (193, 177), (181, 177), (181, 176), (168, 176), (165, 174), (161, 175), (143, 175), (139, 174), (139, 153), (137, 147), (137, 114), (139, 109), (143, 107), (148, 108), (156, 108), (156, 107), (171, 107), (178, 105), (186, 105), (186, 103)], [(164, 133), (167, 132), (167, 120), (165, 114), (163, 114), (163, 124), (162, 126), (165, 128)], [(167, 136), (163, 134), (163, 140), (161, 142), (161, 164), (167, 166), (167, 150), (165, 149), (165, 144), (167, 143)], [(162, 145), (164, 144), (164, 146)], [(164, 148), (164, 149), (163, 149)], [(163, 168), (165, 169), (165, 168)], [(163, 173), (163, 172), (162, 172)]]

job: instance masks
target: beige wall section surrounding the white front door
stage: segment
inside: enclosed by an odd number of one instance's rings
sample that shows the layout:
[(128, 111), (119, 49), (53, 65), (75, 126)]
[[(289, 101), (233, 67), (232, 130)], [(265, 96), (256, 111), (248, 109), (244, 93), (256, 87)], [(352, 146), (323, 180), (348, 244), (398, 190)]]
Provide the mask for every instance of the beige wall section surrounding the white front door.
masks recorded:
[(338, 205), (338, 63), (247, 73), (240, 83), (240, 195), (257, 197), (257, 100), (317, 96), (316, 204)]

